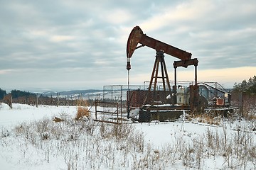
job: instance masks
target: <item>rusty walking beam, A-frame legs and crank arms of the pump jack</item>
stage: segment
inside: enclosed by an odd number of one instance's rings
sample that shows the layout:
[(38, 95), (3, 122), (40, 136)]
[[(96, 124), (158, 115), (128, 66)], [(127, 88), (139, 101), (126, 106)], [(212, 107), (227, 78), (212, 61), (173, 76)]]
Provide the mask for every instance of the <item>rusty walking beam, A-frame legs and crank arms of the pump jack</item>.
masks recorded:
[[(140, 44), (138, 46), (138, 44)], [(176, 68), (177, 67), (188, 67), (189, 65), (194, 65), (195, 66), (195, 84), (190, 86), (190, 110), (194, 111), (198, 109), (199, 105), (199, 95), (198, 95), (198, 84), (197, 84), (197, 66), (198, 66), (198, 60), (196, 58), (191, 59), (191, 53), (186, 52), (184, 50), (178, 49), (177, 47), (174, 47), (172, 45), (166, 44), (165, 42), (161, 42), (159, 40), (156, 40), (154, 38), (151, 38), (147, 36), (146, 34), (143, 33), (142, 29), (139, 28), (139, 26), (135, 26), (132, 29), (132, 32), (129, 35), (129, 38), (127, 40), (127, 70), (128, 70), (128, 86), (129, 86), (129, 70), (131, 69), (131, 62), (130, 59), (134, 53), (135, 50), (137, 50), (140, 47), (151, 47), (152, 49), (156, 50), (156, 60), (154, 62), (154, 67), (153, 71), (151, 74), (151, 79), (149, 82), (149, 88), (148, 92), (146, 94), (146, 98), (144, 98), (144, 103), (142, 105), (142, 111), (146, 111), (147, 113), (142, 113), (142, 115), (149, 114), (150, 118), (147, 120), (153, 120), (153, 119), (159, 119), (161, 117), (160, 111), (161, 109), (166, 111), (166, 110), (174, 110), (176, 109), (176, 92), (177, 92), (177, 84), (176, 84)], [(164, 53), (167, 55), (171, 55), (173, 57), (176, 57), (180, 60), (174, 62), (174, 92), (171, 91), (171, 86), (169, 83), (169, 77), (166, 69), (166, 63), (164, 61)], [(161, 77), (159, 77), (159, 65), (161, 66)], [(161, 79), (162, 84), (163, 84), (163, 91), (164, 91), (164, 96), (172, 96), (171, 103), (166, 101), (166, 98), (164, 100), (165, 104), (170, 104), (168, 107), (154, 107), (156, 104), (156, 101), (158, 100), (156, 98), (157, 91), (156, 91), (156, 84), (158, 79)], [(153, 91), (151, 91), (151, 86), (154, 84)], [(128, 117), (129, 117), (129, 93), (127, 94), (127, 106), (128, 106)], [(157, 111), (156, 111), (157, 110)], [(154, 111), (157, 115), (152, 115), (149, 113), (150, 111)], [(140, 113), (141, 114), (141, 113)], [(159, 115), (160, 114), (160, 115)], [(143, 116), (141, 116), (143, 117)], [(165, 118), (169, 118), (169, 115), (164, 115), (164, 120)], [(160, 118), (161, 119), (161, 118)], [(144, 121), (144, 120), (142, 120)]]

